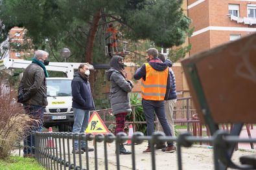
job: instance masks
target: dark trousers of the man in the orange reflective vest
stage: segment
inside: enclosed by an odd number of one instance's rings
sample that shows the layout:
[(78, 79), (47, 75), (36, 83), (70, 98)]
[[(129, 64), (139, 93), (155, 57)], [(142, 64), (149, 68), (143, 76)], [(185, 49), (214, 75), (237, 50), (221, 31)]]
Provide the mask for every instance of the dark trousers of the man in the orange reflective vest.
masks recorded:
[[(165, 101), (142, 100), (142, 107), (146, 118), (146, 134), (151, 136), (154, 133), (154, 111), (163, 127), (166, 136), (172, 136), (170, 125), (165, 116)], [(173, 145), (173, 142), (167, 142), (168, 145)], [(148, 143), (150, 146), (150, 143)]]

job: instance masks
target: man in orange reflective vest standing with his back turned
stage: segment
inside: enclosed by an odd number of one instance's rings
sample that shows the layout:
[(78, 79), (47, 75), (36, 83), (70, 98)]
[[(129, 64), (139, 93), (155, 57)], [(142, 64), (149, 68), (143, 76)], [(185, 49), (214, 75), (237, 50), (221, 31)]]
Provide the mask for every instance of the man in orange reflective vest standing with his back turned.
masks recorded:
[[(151, 136), (154, 132), (154, 111), (163, 127), (163, 131), (167, 136), (172, 136), (170, 125), (165, 116), (165, 99), (168, 98), (172, 80), (170, 77), (169, 67), (167, 63), (163, 63), (157, 58), (158, 51), (156, 48), (146, 50), (147, 63), (136, 70), (134, 74), (135, 80), (141, 79), (142, 105), (146, 118), (146, 133)], [(173, 142), (167, 142), (165, 152), (174, 152), (176, 148)], [(150, 153), (150, 142), (143, 153)]]

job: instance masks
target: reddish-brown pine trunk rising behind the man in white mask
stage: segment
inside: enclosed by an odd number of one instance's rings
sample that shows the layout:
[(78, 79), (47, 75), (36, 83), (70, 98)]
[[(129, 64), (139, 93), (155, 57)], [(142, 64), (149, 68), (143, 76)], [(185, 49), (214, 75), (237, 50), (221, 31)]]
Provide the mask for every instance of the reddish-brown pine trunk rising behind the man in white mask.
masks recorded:
[[(91, 23), (87, 43), (86, 43), (86, 62), (93, 64), (93, 44), (95, 40), (95, 35), (97, 32), (98, 24), (100, 21), (100, 10), (94, 14), (93, 22)], [(91, 83), (91, 92), (94, 95), (94, 84), (95, 84), (95, 72), (91, 72), (89, 81)]]

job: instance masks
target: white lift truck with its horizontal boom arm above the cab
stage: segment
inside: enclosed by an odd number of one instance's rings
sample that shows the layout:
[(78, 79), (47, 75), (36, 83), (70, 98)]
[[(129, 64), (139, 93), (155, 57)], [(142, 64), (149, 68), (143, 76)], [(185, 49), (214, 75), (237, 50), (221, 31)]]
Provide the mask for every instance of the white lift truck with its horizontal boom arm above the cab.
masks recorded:
[[(30, 65), (31, 61), (5, 58), (3, 63), (5, 69), (25, 69)], [(71, 81), (74, 70), (78, 69), (80, 64), (50, 62), (46, 66), (47, 70), (64, 72), (67, 76), (67, 78), (46, 79), (48, 105), (45, 107), (43, 114), (44, 126), (46, 128), (58, 126), (59, 131), (71, 131), (74, 123)], [(89, 69), (94, 69), (93, 65), (89, 63), (87, 65), (89, 65)]]

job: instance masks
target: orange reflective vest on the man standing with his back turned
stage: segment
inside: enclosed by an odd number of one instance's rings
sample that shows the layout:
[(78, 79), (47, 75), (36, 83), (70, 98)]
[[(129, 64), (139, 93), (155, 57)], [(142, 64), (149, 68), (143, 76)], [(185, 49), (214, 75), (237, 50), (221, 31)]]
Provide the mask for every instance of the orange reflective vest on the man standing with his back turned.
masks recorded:
[(146, 65), (146, 81), (141, 81), (142, 98), (145, 100), (165, 100), (169, 68), (163, 71), (153, 69)]

